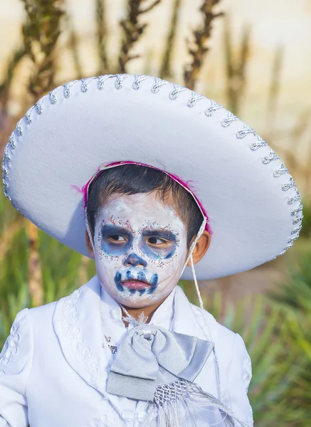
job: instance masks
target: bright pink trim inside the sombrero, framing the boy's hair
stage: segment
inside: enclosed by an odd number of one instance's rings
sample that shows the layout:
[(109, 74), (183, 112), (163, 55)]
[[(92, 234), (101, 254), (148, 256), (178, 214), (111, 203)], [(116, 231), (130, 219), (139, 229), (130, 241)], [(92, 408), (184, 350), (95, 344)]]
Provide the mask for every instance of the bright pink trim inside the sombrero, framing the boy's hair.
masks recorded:
[(183, 181), (180, 176), (171, 174), (167, 171), (164, 171), (162, 169), (159, 169), (157, 167), (154, 166), (150, 166), (149, 164), (144, 164), (144, 163), (139, 163), (139, 162), (132, 162), (131, 160), (125, 161), (125, 162), (112, 162), (109, 164), (106, 164), (105, 167), (102, 167), (102, 165), (100, 165), (100, 167), (98, 167), (97, 172), (88, 180), (88, 182), (82, 187), (82, 189), (79, 189), (77, 186), (74, 186), (75, 189), (77, 189), (80, 193), (83, 194), (83, 200), (84, 200), (84, 207), (86, 207), (86, 203), (88, 201), (88, 186), (90, 185), (90, 182), (95, 181), (95, 179), (97, 179), (98, 176), (100, 176), (100, 172), (102, 172), (105, 169), (108, 169), (110, 167), (115, 167), (115, 166), (120, 166), (121, 164), (137, 164), (140, 166), (145, 166), (145, 167), (152, 167), (153, 169), (157, 169), (160, 170), (162, 172), (164, 172), (165, 174), (167, 174), (168, 176), (170, 176), (170, 178), (174, 179), (174, 181), (178, 182), (181, 186), (184, 187), (184, 189), (186, 189), (187, 191), (189, 191), (189, 193), (191, 194), (191, 196), (194, 197), (194, 200), (196, 201), (196, 203), (198, 204), (199, 208), (201, 209), (202, 214), (205, 216), (206, 218), (206, 226), (205, 229), (206, 231), (208, 231), (211, 235), (213, 234), (211, 231), (211, 228), (209, 226), (209, 216), (207, 215), (206, 209), (204, 209), (203, 204), (201, 203), (201, 201), (198, 199), (198, 197), (195, 194), (195, 189), (194, 186), (192, 184), (190, 184), (191, 181)]

